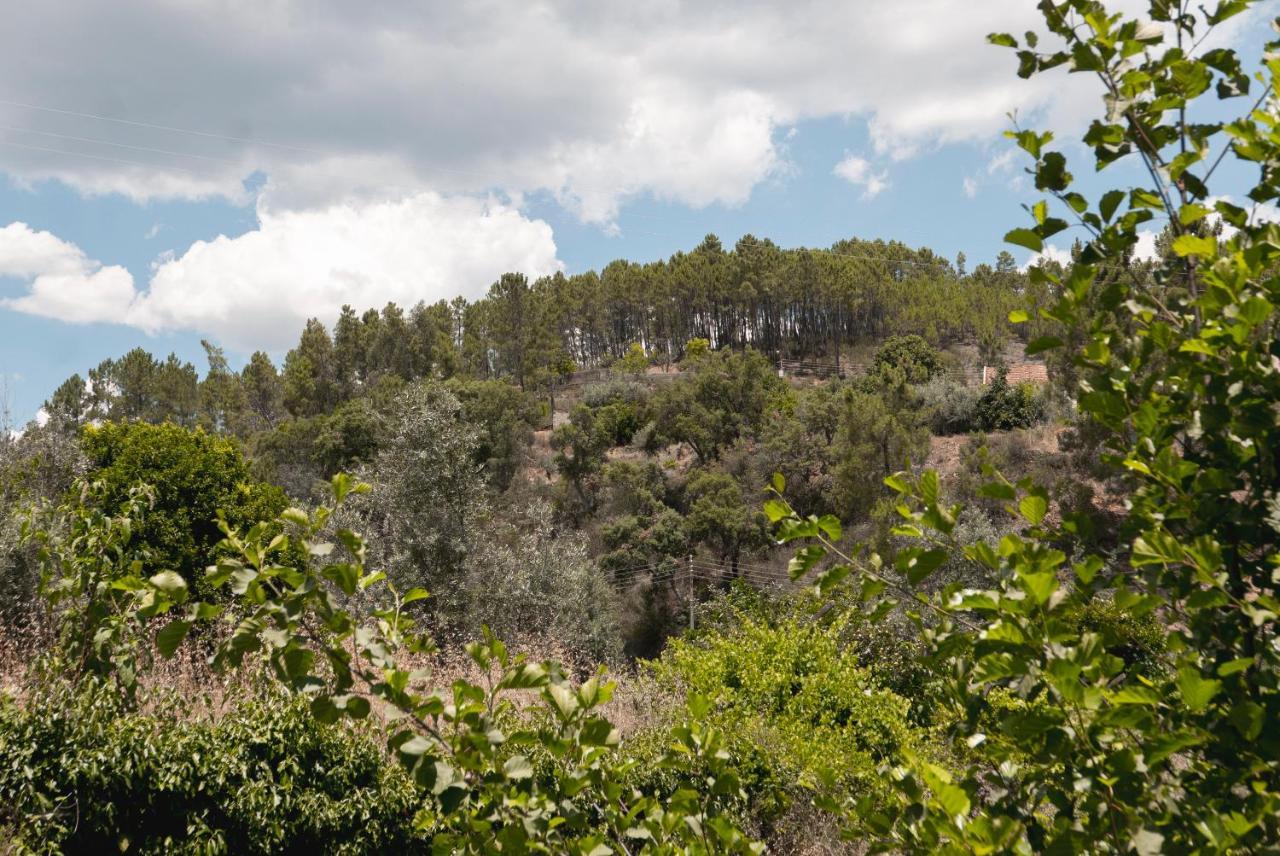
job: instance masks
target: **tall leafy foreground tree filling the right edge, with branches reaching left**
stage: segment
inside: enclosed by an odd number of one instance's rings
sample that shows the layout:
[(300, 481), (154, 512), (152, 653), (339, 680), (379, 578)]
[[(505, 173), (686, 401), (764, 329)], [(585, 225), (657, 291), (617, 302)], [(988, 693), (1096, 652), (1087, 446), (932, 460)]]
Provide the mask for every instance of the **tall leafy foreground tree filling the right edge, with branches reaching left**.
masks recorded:
[[(936, 473), (888, 480), (901, 498), (897, 534), (920, 540), (893, 558), (908, 585), (864, 549), (838, 548), (829, 521), (769, 505), (783, 537), (809, 541), (797, 575), (820, 567), (826, 589), (852, 575), (874, 613), (914, 601), (928, 662), (955, 713), (948, 731), (964, 769), (909, 759), (888, 770), (897, 806), (860, 816), (878, 848), (1265, 852), (1280, 841), (1280, 745), (1267, 732), (1280, 715), (1272, 516), (1280, 472), (1270, 452), (1280, 400), (1272, 317), (1280, 226), (1211, 197), (1208, 187), (1230, 155), (1262, 166), (1251, 200), (1280, 194), (1280, 44), (1267, 46), (1263, 88), (1244, 115), (1206, 122), (1194, 110), (1211, 90), (1225, 100), (1252, 88), (1233, 51), (1196, 52), (1208, 31), (1249, 5), (1193, 12), (1157, 0), (1144, 22), (1092, 0), (1046, 1), (1044, 22), (1062, 49), (1041, 52), (1036, 33), (1025, 47), (1009, 35), (991, 37), (1019, 47), (1024, 77), (1064, 64), (1096, 75), (1108, 113), (1084, 142), (1097, 166), (1134, 157), (1151, 179), (1091, 203), (1070, 189), (1051, 134), (1012, 133), (1036, 161), (1037, 189), (1089, 233), (1070, 269), (1033, 269), (1033, 278), (1057, 296), (1046, 320), (1085, 330), (1073, 354), (1079, 407), (1103, 429), (1107, 462), (1128, 472), (1115, 554), (1082, 549), (1069, 559), (1060, 545), (1078, 545), (1076, 521), (1050, 518), (1050, 496), (1030, 480), (997, 479), (986, 491), (1021, 528), (998, 545), (965, 549), (993, 585), (931, 599), (909, 585), (955, 549), (960, 512), (942, 500)], [(1050, 216), (1047, 201), (1030, 211), (1034, 223), (1006, 239), (1038, 251), (1068, 223)], [(1207, 234), (1211, 214), (1233, 234)], [(1139, 226), (1157, 216), (1174, 232), (1172, 257), (1153, 278), (1126, 275)], [(883, 600), (886, 591), (893, 598)], [(1105, 630), (1080, 632), (1100, 601), (1129, 619), (1156, 618), (1161, 668), (1114, 653)]]

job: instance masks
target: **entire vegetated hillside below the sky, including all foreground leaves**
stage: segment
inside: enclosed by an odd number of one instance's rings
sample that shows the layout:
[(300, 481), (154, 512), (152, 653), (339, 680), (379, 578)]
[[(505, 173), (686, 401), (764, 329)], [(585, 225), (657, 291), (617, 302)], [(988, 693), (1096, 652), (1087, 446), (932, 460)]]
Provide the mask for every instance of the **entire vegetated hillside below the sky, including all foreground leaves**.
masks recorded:
[(1280, 42), (1190, 47), (1248, 5), (991, 37), (1149, 169), (1011, 132), (1066, 265), (708, 235), (72, 376), (0, 440), (0, 834), (1271, 852), (1280, 225), (1210, 179), (1280, 197)]

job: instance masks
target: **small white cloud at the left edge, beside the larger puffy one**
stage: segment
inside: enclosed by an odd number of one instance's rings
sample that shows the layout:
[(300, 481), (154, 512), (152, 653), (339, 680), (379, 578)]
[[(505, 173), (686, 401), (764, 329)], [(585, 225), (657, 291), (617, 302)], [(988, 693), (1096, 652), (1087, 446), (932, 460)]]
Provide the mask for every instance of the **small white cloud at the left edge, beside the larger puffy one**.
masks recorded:
[(0, 229), (0, 275), (27, 280), (26, 294), (0, 306), (72, 324), (124, 320), (136, 297), (128, 270), (26, 223)]

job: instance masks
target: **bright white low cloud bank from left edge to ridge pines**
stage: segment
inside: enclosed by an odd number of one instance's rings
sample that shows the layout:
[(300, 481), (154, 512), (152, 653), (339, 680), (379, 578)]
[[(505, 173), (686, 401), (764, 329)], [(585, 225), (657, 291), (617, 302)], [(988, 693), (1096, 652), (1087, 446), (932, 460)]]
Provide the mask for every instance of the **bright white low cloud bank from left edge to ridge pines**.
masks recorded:
[(241, 351), (274, 349), (291, 344), (307, 317), (332, 322), (343, 303), (476, 298), (503, 271), (538, 276), (561, 267), (550, 226), (492, 200), (419, 193), (308, 211), (264, 206), (259, 220), (239, 237), (201, 241), (161, 258), (143, 292), (123, 267), (10, 224), (0, 229), (0, 275), (26, 279), (27, 293), (4, 306), (150, 333), (196, 330)]

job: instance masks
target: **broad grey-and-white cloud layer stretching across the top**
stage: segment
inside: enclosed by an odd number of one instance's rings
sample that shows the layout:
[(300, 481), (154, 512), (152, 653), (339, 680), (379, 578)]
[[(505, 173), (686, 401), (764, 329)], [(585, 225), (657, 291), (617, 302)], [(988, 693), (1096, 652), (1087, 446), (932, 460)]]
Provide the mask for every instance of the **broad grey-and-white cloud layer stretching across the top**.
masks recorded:
[(989, 139), (1014, 109), (1079, 119), (1084, 75), (1018, 81), (984, 41), (1037, 19), (1027, 0), (19, 4), (0, 169), (241, 201), (261, 170), (296, 209), (425, 188), (548, 189), (600, 223), (635, 194), (735, 205), (806, 119), (860, 118), (887, 159)]

